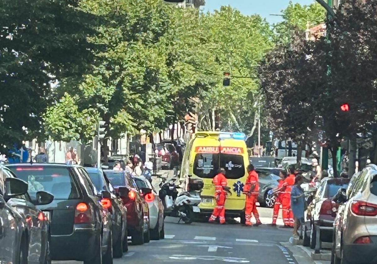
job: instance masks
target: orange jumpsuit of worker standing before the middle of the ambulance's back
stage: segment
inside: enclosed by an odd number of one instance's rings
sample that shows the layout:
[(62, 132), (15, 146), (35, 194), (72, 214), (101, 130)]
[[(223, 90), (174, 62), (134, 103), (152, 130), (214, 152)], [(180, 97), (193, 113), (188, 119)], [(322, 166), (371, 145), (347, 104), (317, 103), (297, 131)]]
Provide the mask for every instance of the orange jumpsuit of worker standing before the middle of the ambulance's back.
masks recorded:
[(224, 190), (224, 187), (227, 186), (228, 180), (225, 178), (225, 175), (219, 173), (212, 179), (213, 185), (215, 185), (215, 198), (216, 198), (216, 207), (213, 209), (212, 215), (209, 219), (209, 222), (213, 222), (216, 218), (219, 217), (220, 224), (225, 223), (225, 198), (227, 193)]

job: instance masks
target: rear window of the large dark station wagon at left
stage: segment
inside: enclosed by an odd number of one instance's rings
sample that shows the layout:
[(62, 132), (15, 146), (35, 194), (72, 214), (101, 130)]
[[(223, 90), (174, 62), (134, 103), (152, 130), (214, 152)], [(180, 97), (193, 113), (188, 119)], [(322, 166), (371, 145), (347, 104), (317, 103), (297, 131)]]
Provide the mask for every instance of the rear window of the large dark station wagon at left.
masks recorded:
[(9, 167), (17, 178), (29, 184), (28, 193), (35, 198), (39, 191), (54, 195), (54, 200), (72, 200), (80, 198), (69, 167), (52, 166), (12, 166)]

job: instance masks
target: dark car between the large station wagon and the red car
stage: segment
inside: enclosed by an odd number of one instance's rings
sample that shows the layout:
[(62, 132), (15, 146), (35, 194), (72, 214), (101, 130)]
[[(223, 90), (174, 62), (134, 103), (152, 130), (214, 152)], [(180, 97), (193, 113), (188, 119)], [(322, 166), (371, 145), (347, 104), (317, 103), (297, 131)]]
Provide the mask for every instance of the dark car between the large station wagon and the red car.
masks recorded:
[(110, 198), (103, 199), (102, 203), (111, 213), (112, 238), (113, 238), (113, 257), (121, 258), (123, 252), (128, 250), (127, 242), (127, 208), (122, 199), (115, 194), (115, 191), (103, 171), (98, 168), (85, 167), (94, 186), (100, 193), (109, 192)]

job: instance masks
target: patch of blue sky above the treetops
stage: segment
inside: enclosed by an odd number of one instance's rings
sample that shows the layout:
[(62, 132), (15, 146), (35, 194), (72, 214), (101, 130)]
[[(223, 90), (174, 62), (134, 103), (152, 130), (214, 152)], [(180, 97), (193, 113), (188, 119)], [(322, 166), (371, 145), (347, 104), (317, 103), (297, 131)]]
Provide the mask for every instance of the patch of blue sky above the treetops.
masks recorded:
[[(293, 3), (309, 5), (314, 0), (291, 0)], [(237, 8), (245, 15), (259, 14), (265, 17), (268, 22), (275, 23), (281, 17), (271, 16), (270, 14), (280, 14), (280, 11), (288, 6), (290, 0), (205, 0), (204, 11), (213, 11), (220, 6), (230, 5)], [(203, 7), (202, 7), (203, 8)]]

